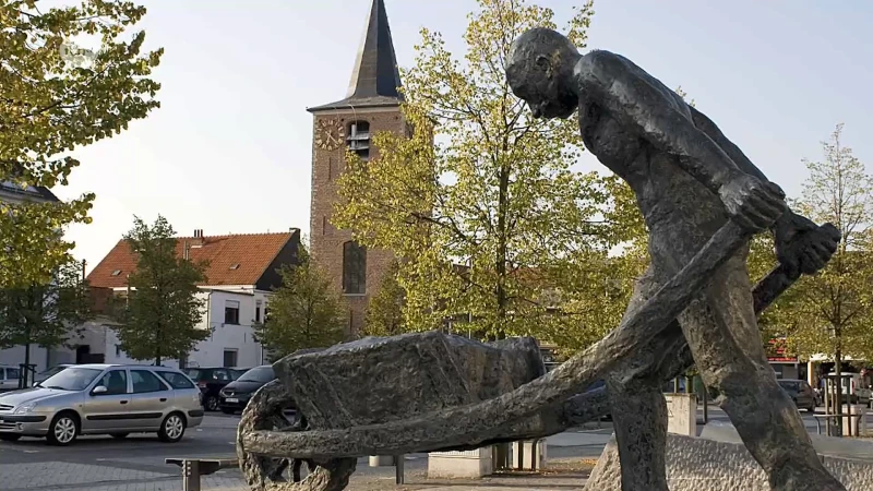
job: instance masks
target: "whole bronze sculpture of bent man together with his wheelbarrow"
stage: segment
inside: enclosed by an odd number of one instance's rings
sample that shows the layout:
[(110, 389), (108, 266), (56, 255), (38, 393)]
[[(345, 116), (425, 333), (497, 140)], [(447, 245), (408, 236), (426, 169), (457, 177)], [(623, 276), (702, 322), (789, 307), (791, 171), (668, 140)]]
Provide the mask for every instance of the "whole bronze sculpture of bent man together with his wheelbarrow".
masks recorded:
[[(796, 279), (793, 272), (823, 267), (838, 233), (786, 211), (782, 191), (708, 118), (621, 56), (583, 56), (559, 33), (535, 28), (513, 44), (506, 75), (534, 117), (578, 112), (586, 148), (637, 196), (651, 265), (625, 318), (545, 375), (529, 339), (485, 345), (439, 333), (286, 357), (275, 364), (280, 381), (253, 397), (239, 426), (237, 452), (249, 484), (338, 491), (361, 456), (542, 438), (586, 412), (597, 416), (601, 408), (588, 406), (597, 394), (574, 396), (605, 379), (611, 411), (624, 421), (617, 426), (623, 488), (665, 491), (666, 408), (658, 387), (691, 364), (691, 346), (774, 489), (845, 489), (823, 468), (765, 367), (743, 253), (756, 230), (773, 226), (780, 261), (793, 263), (762, 283), (760, 311)], [(289, 397), (308, 428), (282, 417)], [(311, 459), (316, 468), (288, 482), (288, 458)]]

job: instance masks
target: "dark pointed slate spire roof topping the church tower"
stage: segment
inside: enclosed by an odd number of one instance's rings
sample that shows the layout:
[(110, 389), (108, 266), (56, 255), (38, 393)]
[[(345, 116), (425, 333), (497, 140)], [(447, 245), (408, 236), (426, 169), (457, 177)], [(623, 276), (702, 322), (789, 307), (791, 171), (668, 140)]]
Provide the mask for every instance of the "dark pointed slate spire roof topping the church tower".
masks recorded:
[(315, 112), (351, 107), (397, 106), (403, 100), (397, 91), (400, 85), (385, 2), (373, 0), (346, 98), (307, 110)]

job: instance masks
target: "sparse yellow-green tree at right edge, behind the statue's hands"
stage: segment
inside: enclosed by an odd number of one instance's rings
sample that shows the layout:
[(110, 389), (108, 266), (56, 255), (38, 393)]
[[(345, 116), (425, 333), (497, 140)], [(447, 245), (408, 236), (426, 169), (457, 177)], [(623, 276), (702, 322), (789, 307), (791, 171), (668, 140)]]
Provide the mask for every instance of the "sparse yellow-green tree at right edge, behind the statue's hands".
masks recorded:
[(779, 320), (789, 348), (802, 356), (824, 354), (839, 375), (846, 356), (873, 359), (873, 177), (841, 142), (838, 124), (823, 142), (824, 160), (804, 160), (810, 177), (797, 208), (842, 233), (822, 272), (802, 277)]

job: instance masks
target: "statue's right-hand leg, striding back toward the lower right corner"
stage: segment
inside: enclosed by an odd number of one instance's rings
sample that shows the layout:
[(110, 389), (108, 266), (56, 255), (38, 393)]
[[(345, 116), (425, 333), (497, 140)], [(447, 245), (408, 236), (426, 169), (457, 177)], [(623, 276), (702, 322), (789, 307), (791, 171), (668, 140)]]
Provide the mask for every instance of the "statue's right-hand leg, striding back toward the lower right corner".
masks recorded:
[(803, 420), (767, 363), (752, 303), (745, 254), (716, 274), (705, 297), (679, 316), (707, 386), (721, 393), (746, 448), (777, 491), (845, 491), (815, 454)]

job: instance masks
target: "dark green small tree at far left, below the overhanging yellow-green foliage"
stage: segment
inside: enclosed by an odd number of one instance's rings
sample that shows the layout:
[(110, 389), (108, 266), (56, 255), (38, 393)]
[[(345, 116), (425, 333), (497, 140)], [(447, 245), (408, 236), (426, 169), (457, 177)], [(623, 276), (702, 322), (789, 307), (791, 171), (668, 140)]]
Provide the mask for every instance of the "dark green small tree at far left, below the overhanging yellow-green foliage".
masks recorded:
[(29, 366), (31, 346), (67, 344), (89, 316), (82, 273), (81, 263), (69, 261), (49, 283), (0, 290), (0, 349), (24, 346), (24, 364)]

